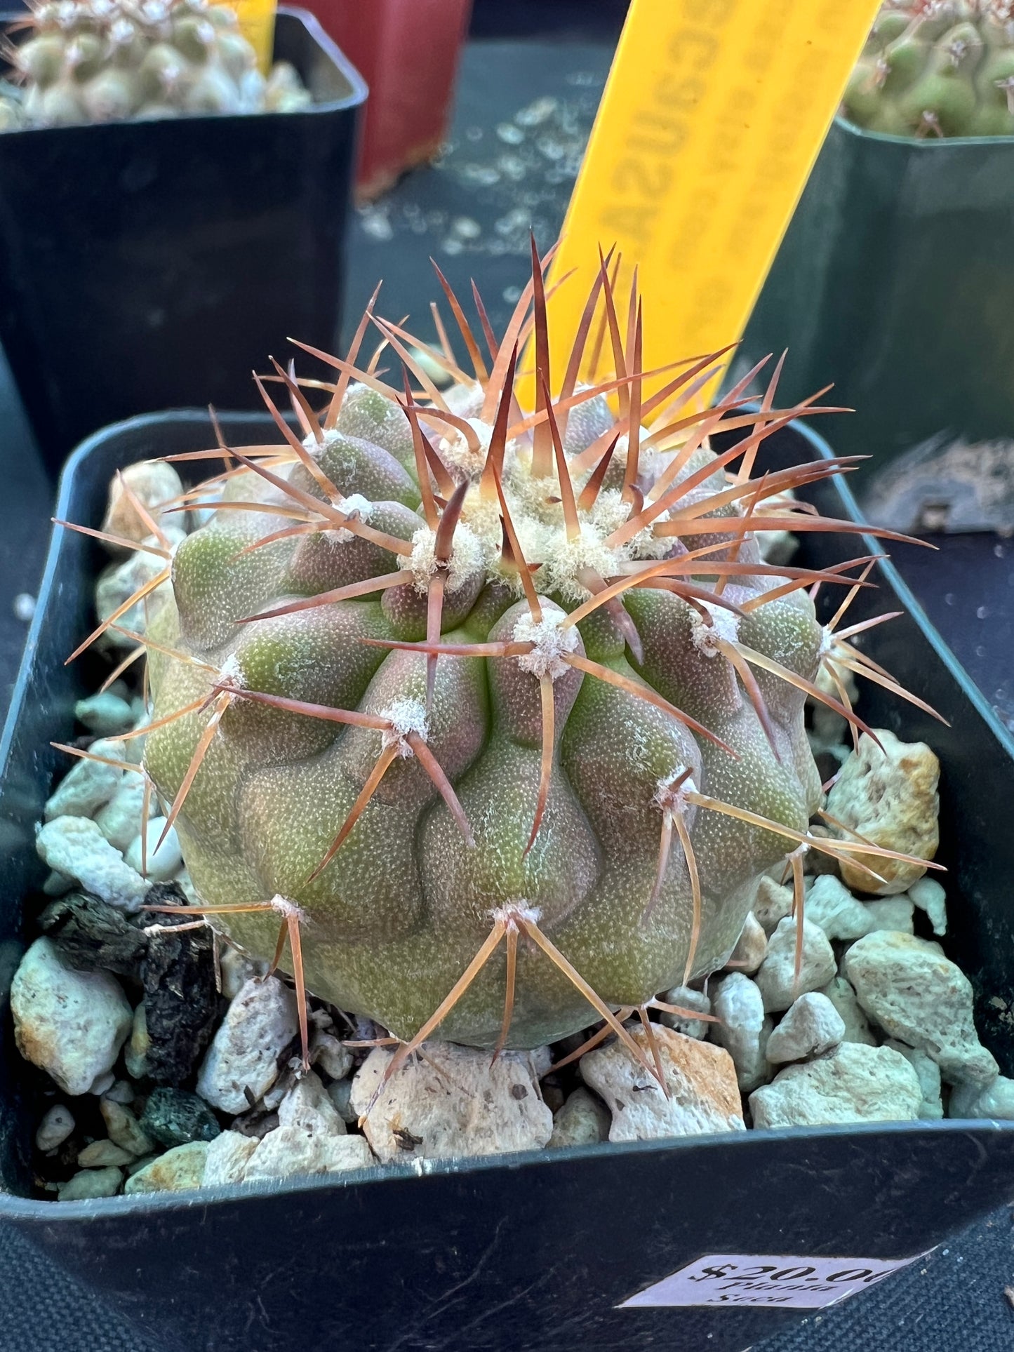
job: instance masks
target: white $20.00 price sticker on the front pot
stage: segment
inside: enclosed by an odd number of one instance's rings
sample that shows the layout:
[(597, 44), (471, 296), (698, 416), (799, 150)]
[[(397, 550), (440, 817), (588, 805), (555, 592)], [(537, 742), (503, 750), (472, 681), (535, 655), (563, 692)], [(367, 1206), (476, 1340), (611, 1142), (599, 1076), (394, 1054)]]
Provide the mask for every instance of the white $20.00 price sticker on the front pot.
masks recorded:
[[(933, 1252), (932, 1249), (927, 1252)], [(722, 1305), (819, 1310), (918, 1263), (910, 1259), (808, 1259), (784, 1253), (710, 1253), (617, 1306)]]

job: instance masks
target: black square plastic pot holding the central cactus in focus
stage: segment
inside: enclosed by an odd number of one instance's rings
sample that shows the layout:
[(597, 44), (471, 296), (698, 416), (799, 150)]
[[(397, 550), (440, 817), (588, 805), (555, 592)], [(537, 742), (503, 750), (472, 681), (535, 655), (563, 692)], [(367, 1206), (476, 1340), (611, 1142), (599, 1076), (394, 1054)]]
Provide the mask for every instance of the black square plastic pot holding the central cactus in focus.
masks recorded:
[[(251, 414), (223, 419), (231, 443), (273, 437)], [(85, 442), (62, 479), (58, 514), (100, 519), (118, 466), (207, 443), (206, 415), (137, 418)], [(803, 429), (771, 438), (771, 465), (827, 456)], [(854, 516), (848, 489), (813, 500)], [(804, 537), (803, 561), (875, 553), (869, 539)], [(0, 963), (23, 946), (20, 899), (42, 877), (32, 827), (82, 694), (72, 635), (91, 626), (97, 550), (61, 531), (50, 550), (0, 761)], [(977, 992), (977, 1025), (1014, 1071), (1014, 749), (890, 564), (861, 592), (868, 653), (949, 719), (944, 727), (876, 687), (867, 719), (925, 738), (942, 763), (941, 861), (949, 872), (949, 953)], [(830, 599), (829, 599), (830, 604)], [(995, 1003), (999, 1000), (999, 1003)], [(72, 1270), (91, 1291), (178, 1352), (711, 1348), (741, 1352), (799, 1318), (734, 1302), (673, 1309), (622, 1302), (704, 1255), (907, 1259), (1014, 1198), (1014, 1122), (941, 1121), (741, 1132), (625, 1145), (437, 1160), (200, 1194), (47, 1202), (30, 1197), (23, 1063), (3, 1010), (0, 1222)], [(845, 1268), (853, 1264), (844, 1264)], [(861, 1297), (860, 1297), (861, 1298)]]

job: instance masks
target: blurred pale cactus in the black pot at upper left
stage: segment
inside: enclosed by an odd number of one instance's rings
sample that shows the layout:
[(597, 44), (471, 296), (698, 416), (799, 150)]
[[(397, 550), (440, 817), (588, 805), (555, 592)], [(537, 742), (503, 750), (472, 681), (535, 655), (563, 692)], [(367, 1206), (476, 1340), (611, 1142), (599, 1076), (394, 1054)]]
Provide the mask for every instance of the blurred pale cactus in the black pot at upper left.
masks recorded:
[[(8, 55), (28, 124), (287, 112), (310, 103), (292, 66), (265, 81), (235, 11), (207, 0), (47, 0)], [(1, 124), (0, 124), (1, 126)]]

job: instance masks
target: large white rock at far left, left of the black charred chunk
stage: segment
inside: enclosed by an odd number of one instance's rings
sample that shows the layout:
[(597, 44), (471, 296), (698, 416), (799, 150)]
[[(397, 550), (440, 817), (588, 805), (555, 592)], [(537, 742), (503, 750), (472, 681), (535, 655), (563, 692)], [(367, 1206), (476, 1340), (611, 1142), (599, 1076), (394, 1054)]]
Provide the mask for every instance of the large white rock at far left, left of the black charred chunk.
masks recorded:
[(131, 1010), (105, 972), (64, 967), (47, 938), (37, 938), (11, 984), (18, 1051), (66, 1094), (87, 1094), (115, 1064)]

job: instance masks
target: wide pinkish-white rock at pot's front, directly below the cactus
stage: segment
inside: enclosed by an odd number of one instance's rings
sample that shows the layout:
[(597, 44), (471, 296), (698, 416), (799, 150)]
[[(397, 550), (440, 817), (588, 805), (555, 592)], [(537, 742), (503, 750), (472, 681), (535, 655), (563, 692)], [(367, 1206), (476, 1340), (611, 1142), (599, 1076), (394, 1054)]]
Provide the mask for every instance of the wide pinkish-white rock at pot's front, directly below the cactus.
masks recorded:
[(395, 1055), (376, 1046), (356, 1072), (352, 1106), (366, 1115), (366, 1140), (383, 1161), (445, 1159), (531, 1151), (546, 1145), (553, 1114), (542, 1102), (530, 1052), (489, 1052), (454, 1042), (426, 1042), (387, 1082)]

